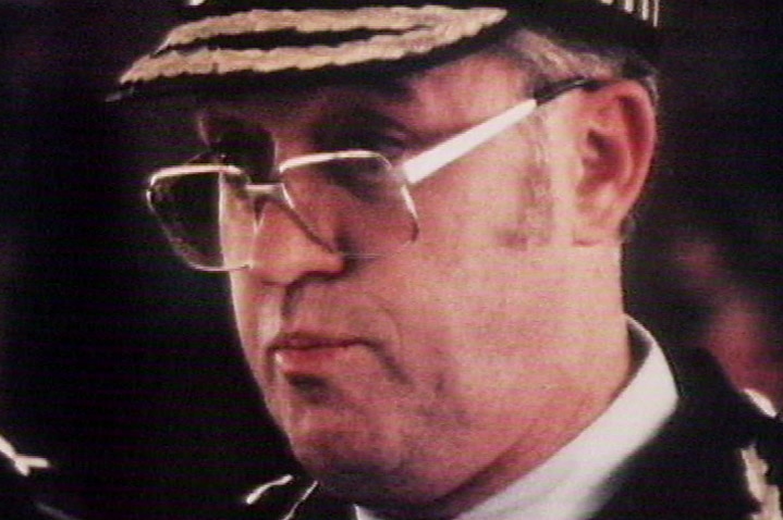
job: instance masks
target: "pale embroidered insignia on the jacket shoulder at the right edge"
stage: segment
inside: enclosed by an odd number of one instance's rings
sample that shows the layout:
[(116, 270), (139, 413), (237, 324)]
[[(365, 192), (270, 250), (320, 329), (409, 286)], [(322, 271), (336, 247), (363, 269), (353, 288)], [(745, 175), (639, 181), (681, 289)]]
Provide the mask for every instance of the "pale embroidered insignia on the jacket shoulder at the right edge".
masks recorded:
[(781, 471), (783, 470), (783, 424), (774, 419), (774, 408), (762, 395), (745, 391), (763, 414), (762, 431), (742, 449), (745, 481), (759, 509), (750, 520), (783, 520), (781, 512)]

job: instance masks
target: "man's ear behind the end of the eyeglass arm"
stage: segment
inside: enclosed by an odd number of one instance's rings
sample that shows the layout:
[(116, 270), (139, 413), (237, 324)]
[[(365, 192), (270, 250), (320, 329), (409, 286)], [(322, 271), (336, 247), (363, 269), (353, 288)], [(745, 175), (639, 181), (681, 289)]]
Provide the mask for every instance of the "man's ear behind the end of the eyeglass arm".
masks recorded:
[(587, 96), (574, 230), (575, 243), (584, 246), (620, 238), (656, 149), (654, 109), (641, 84), (617, 82)]

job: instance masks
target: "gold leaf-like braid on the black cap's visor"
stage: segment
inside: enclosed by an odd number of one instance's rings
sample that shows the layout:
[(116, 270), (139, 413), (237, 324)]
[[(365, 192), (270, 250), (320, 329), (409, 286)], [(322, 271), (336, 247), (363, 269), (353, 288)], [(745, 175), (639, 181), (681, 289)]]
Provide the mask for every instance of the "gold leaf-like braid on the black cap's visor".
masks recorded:
[[(368, 61), (394, 61), (423, 55), (477, 35), (503, 21), (507, 11), (499, 8), (453, 9), (372, 7), (356, 10), (254, 10), (225, 16), (210, 16), (181, 25), (166, 37), (158, 50), (137, 60), (122, 75), (122, 85), (174, 78), (183, 75), (223, 75), (237, 72), (270, 73), (284, 70), (309, 71), (329, 65), (352, 65)], [(299, 35), (352, 30), (381, 34), (354, 38), (338, 45), (281, 46), (273, 49), (209, 48), (209, 40), (276, 32)], [(204, 42), (204, 45), (199, 45)], [(185, 46), (196, 46), (184, 49)]]

